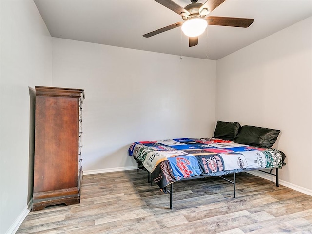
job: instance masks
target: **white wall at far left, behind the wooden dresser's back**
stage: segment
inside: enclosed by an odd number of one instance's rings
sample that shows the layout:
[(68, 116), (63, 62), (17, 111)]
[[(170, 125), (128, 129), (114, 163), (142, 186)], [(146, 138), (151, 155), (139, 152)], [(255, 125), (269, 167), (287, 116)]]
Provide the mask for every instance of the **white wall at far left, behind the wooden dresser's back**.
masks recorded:
[(33, 170), (33, 99), (51, 85), (52, 38), (32, 0), (0, 1), (0, 233), (28, 212)]

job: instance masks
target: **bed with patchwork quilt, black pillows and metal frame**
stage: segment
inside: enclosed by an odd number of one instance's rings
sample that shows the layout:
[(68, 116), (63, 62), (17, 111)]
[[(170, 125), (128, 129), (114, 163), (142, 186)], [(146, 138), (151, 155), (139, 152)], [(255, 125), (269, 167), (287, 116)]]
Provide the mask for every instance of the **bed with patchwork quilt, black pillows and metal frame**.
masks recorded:
[[(180, 180), (219, 176), (233, 184), (235, 197), (236, 173), (260, 170), (276, 176), (278, 186), (278, 169), (286, 165), (285, 155), (271, 146), (279, 132), (218, 121), (214, 137), (138, 141), (130, 146), (129, 155), (137, 161), (138, 169), (149, 172), (151, 185), (155, 182), (170, 194), (172, 209), (173, 183)], [(233, 180), (223, 177), (228, 174)]]

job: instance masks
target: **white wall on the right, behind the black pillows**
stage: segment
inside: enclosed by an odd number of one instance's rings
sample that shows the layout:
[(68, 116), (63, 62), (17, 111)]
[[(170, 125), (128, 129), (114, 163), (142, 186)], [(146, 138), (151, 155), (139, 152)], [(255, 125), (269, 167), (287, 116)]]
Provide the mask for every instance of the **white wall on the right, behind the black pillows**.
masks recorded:
[(311, 17), (217, 61), (216, 119), (280, 129), (280, 178), (312, 195)]

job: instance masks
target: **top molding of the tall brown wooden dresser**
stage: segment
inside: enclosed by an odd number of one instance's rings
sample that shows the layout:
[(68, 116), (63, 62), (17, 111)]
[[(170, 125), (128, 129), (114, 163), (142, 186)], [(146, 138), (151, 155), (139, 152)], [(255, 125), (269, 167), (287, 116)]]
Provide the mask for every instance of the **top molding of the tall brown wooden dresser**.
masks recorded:
[(83, 102), (85, 98), (83, 89), (69, 89), (69, 88), (47, 87), (47, 86), (35, 86), (35, 89), (36, 96), (80, 98), (81, 102)]

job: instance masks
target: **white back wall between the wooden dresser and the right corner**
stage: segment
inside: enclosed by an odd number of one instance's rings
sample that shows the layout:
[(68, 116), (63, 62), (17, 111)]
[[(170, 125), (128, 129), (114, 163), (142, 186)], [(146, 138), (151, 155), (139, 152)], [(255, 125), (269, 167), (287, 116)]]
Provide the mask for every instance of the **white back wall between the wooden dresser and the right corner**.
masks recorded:
[(85, 172), (135, 167), (135, 141), (212, 136), (215, 61), (58, 38), (52, 54), (53, 86), (85, 90)]

